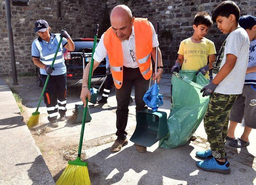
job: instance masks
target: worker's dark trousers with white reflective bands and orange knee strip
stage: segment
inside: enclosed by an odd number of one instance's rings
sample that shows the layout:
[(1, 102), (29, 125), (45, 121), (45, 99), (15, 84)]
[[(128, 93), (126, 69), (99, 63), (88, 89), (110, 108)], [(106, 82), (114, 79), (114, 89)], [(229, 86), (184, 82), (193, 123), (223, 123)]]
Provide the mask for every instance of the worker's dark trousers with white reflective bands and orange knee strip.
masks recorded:
[[(46, 82), (47, 75), (42, 75), (43, 84)], [(67, 75), (51, 75), (44, 92), (44, 102), (49, 114), (48, 120), (56, 120), (58, 112), (64, 115), (67, 100)]]

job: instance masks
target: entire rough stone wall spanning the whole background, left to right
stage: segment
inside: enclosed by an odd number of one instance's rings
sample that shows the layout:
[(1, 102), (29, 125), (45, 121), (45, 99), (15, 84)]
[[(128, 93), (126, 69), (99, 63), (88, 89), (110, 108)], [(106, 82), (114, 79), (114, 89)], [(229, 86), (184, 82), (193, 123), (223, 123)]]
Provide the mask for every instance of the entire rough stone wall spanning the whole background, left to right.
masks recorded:
[[(58, 17), (57, 4), (61, 4), (61, 16)], [(109, 26), (109, 13), (118, 4), (126, 4), (135, 17), (148, 18), (153, 25), (160, 22), (160, 49), (165, 72), (176, 61), (180, 41), (193, 34), (192, 23), (197, 12), (211, 14), (220, 0), (30, 0), (29, 7), (12, 6), (12, 26), (14, 34), (17, 72), (34, 71), (31, 59), (31, 43), (37, 37), (33, 32), (34, 22), (45, 19), (52, 32), (66, 28), (72, 38), (92, 37), (96, 23), (100, 24), (101, 35)], [(256, 15), (255, 0), (236, 0), (241, 14)], [(5, 3), (0, 0), (0, 76), (11, 75), (8, 32), (6, 25)], [(214, 41), (218, 51), (223, 35), (216, 24), (206, 35)]]

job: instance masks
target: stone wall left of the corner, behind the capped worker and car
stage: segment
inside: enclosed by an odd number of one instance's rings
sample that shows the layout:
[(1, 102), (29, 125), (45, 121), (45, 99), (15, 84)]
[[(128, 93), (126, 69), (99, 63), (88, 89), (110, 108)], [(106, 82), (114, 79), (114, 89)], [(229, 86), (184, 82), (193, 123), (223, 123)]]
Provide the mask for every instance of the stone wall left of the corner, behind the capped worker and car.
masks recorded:
[[(61, 7), (59, 15), (58, 3)], [(11, 75), (12, 70), (4, 0), (0, 0), (0, 5), (0, 76), (6, 76)], [(46, 20), (52, 33), (66, 28), (72, 38), (92, 38), (96, 23), (100, 24), (100, 35), (107, 28), (104, 26), (106, 0), (30, 0), (29, 6), (11, 4), (11, 13), (17, 73), (35, 70), (31, 44), (37, 37), (34, 33), (36, 20)]]

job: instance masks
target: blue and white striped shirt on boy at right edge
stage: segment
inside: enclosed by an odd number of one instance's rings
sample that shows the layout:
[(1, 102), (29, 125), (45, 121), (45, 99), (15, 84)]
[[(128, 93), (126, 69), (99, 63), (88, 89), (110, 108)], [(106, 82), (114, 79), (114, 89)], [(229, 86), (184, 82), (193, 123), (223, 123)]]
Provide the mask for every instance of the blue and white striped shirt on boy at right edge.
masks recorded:
[[(250, 41), (248, 67), (256, 67), (256, 39)], [(256, 85), (256, 72), (245, 75), (246, 85)]]

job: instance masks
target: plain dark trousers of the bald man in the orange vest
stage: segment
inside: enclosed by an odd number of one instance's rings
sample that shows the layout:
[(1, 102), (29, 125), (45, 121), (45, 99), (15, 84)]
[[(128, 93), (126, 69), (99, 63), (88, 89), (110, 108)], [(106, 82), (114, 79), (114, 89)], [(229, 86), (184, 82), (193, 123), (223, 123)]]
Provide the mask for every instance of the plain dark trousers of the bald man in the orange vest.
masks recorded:
[(143, 101), (143, 96), (149, 89), (149, 83), (150, 79), (145, 80), (139, 68), (124, 67), (122, 87), (120, 89), (116, 88), (116, 136), (118, 139), (125, 139), (127, 135), (125, 128), (128, 121), (128, 106), (132, 87), (134, 86), (136, 112), (138, 112), (148, 108)]

